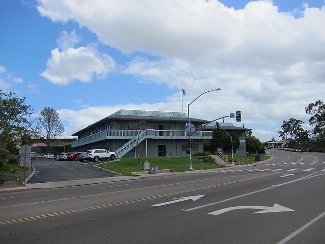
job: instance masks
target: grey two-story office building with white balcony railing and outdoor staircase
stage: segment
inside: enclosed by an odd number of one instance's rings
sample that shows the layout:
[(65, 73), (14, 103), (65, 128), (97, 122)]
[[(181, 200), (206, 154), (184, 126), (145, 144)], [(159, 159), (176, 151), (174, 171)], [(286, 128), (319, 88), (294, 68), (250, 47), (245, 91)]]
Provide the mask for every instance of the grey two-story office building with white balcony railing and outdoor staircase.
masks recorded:
[(122, 109), (74, 133), (78, 139), (71, 146), (79, 152), (104, 148), (117, 157), (134, 157), (135, 146), (141, 145), (141, 157), (186, 156), (193, 132), (192, 151), (202, 152), (203, 139), (212, 139), (212, 131), (195, 130), (209, 121), (191, 118), (191, 132), (187, 122), (185, 113)]

